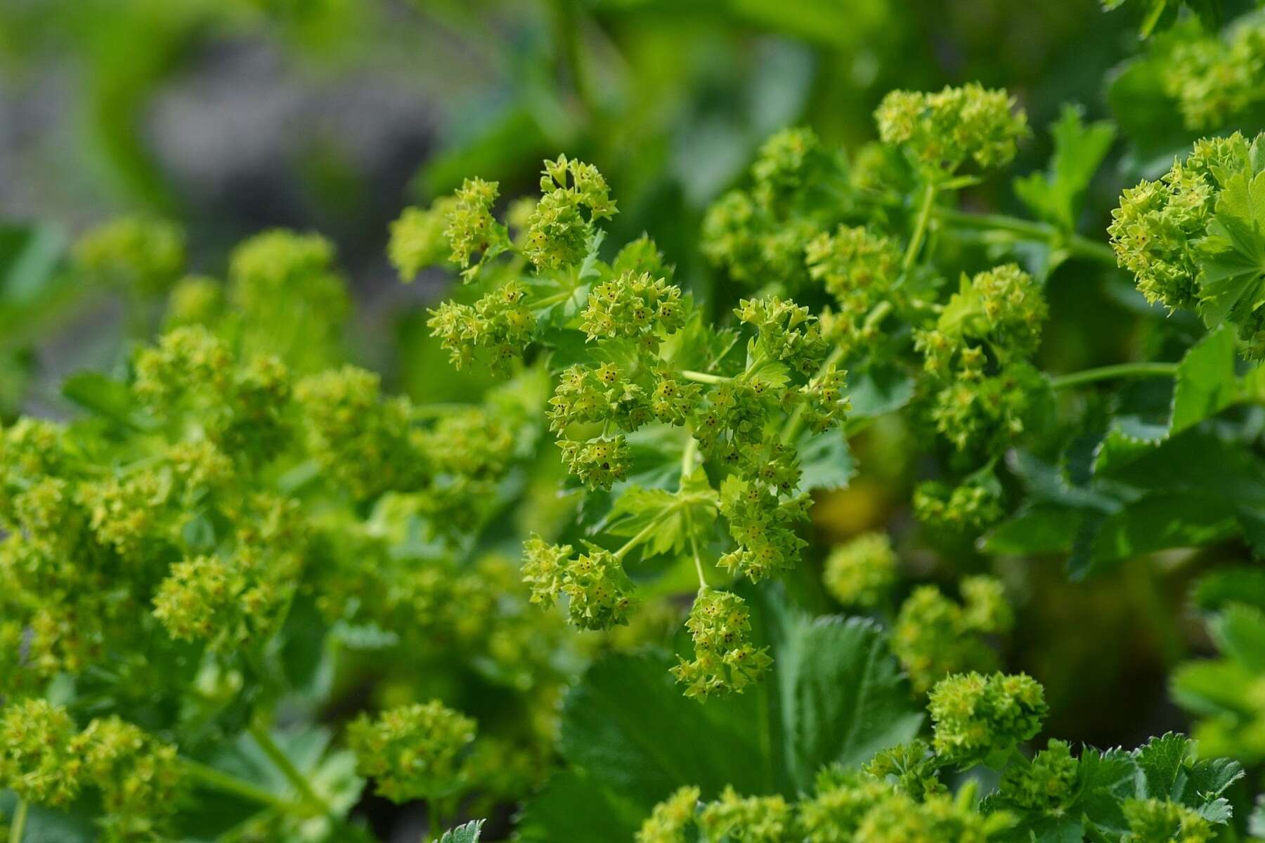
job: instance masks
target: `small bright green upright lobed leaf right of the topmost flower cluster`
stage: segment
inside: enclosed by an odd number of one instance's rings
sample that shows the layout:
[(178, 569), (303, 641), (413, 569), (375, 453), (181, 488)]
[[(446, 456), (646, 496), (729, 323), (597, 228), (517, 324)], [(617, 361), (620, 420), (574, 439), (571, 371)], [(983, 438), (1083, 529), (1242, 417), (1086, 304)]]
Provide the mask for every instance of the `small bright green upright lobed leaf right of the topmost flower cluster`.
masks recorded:
[(1116, 128), (1106, 120), (1087, 126), (1083, 109), (1069, 104), (1063, 106), (1050, 133), (1054, 135), (1050, 169), (1016, 178), (1015, 195), (1036, 216), (1073, 231), (1085, 190), (1116, 139)]

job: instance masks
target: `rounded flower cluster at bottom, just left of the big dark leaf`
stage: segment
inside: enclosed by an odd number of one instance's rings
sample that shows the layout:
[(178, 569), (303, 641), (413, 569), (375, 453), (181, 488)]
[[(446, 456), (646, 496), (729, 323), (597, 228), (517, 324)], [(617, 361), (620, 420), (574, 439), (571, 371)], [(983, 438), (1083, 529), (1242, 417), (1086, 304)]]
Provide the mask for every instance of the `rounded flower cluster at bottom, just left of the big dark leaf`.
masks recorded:
[(468, 779), (474, 720), (439, 700), (401, 705), (376, 718), (362, 714), (347, 729), (357, 770), (393, 803), (436, 799)]

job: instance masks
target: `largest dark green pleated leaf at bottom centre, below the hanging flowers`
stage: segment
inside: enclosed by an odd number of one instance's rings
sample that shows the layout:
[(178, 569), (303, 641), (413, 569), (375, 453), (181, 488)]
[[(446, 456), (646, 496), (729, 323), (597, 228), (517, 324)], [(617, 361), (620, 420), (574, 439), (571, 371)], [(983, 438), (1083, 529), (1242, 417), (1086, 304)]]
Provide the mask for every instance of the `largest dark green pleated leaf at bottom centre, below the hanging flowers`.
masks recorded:
[[(615, 655), (589, 667), (563, 705), (567, 770), (529, 801), (524, 839), (629, 839), (682, 785), (705, 798), (726, 785), (794, 796), (822, 765), (860, 763), (917, 734), (922, 713), (877, 626), (813, 621), (768, 591), (749, 602), (753, 636), (770, 642), (774, 662), (745, 694), (686, 699), (667, 653)], [(571, 814), (607, 819), (586, 828)]]

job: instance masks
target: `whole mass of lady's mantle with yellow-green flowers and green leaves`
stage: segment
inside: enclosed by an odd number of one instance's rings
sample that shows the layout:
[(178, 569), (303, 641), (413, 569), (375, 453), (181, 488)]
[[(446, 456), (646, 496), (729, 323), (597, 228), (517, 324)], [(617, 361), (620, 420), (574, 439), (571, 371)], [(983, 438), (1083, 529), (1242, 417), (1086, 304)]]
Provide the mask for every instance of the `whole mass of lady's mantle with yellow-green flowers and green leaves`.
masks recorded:
[[(1176, 5), (1152, 4), (1149, 27)], [(1254, 107), (1240, 71), (1257, 29), (1174, 53), (1164, 85), (1189, 126)], [(1061, 552), (1077, 578), (1174, 546), (1260, 555), (1259, 427), (1238, 411), (1265, 398), (1249, 368), (1265, 358), (1265, 142), (1198, 140), (1125, 190), (1108, 245), (1078, 221), (1109, 124), (1064, 111), (1050, 168), (1015, 182), (1020, 219), (959, 202), (1031, 134), (1006, 91), (894, 91), (875, 120), (879, 142), (851, 155), (807, 129), (763, 145), (703, 219), (712, 289), (678, 286), (648, 236), (608, 244), (611, 190), (567, 157), (545, 162), (538, 198), (502, 209), (497, 183), (471, 178), (406, 210), (390, 244), (404, 278), (445, 264), (464, 281), (433, 335), (457, 368), (503, 379), (478, 403), (417, 404), (347, 363), (349, 297), (319, 236), (253, 238), (221, 283), (183, 274), (166, 224), (90, 233), (73, 270), (128, 294), (138, 336), (167, 306), (124, 377), (66, 384), (85, 416), (0, 431), (10, 839), (62, 822), (82, 839), (367, 840), (349, 819), (366, 779), (424, 801), (438, 838), (536, 790), (559, 756), (525, 839), (576, 837), (557, 830), (576, 813), (559, 792), (612, 806), (597, 820), (643, 843), (1214, 839), (1241, 768), (1184, 738), (1025, 752), (1046, 703), (997, 672), (1015, 624), (999, 579), (903, 589), (903, 552), (869, 533), (829, 554), (824, 586), (872, 621), (798, 618), (777, 580), (810, 547), (811, 493), (850, 478), (848, 436), (897, 413), (920, 458), (912, 511), (947, 547)], [(1046, 283), (1068, 262), (1118, 263), (1207, 335), (1180, 360), (1044, 372)], [(1171, 382), (1159, 416), (1092, 394), (1133, 378)], [(533, 495), (563, 468), (567, 513), (540, 516)], [(1254, 583), (1200, 585), (1223, 657), (1174, 682), (1198, 736), (1247, 760), (1265, 755)], [(593, 653), (668, 626), (672, 664), (620, 656), (573, 682)], [(336, 738), (283, 728), (339, 720), (318, 708), (358, 672), (386, 679)], [(612, 676), (625, 685), (595, 691)], [(603, 719), (621, 693), (649, 704)], [(676, 719), (572, 763), (595, 720), (663, 712)], [(669, 728), (682, 747), (659, 752)], [(707, 762), (748, 732), (750, 770), (725, 756), (717, 781)], [(641, 766), (663, 770), (611, 772), (648, 743)], [(982, 799), (985, 777), (956, 775), (977, 767), (997, 781)]]

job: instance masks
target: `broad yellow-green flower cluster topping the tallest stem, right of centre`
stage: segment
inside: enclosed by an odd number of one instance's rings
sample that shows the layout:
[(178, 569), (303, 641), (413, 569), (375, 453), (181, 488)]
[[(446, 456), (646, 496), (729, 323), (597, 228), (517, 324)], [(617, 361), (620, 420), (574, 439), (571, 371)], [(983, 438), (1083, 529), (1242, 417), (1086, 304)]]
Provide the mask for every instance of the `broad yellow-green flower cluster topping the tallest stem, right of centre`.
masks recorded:
[(975, 82), (936, 94), (892, 91), (874, 119), (883, 143), (904, 149), (931, 179), (953, 174), (968, 161), (984, 169), (1004, 167), (1028, 135), (1015, 99)]

